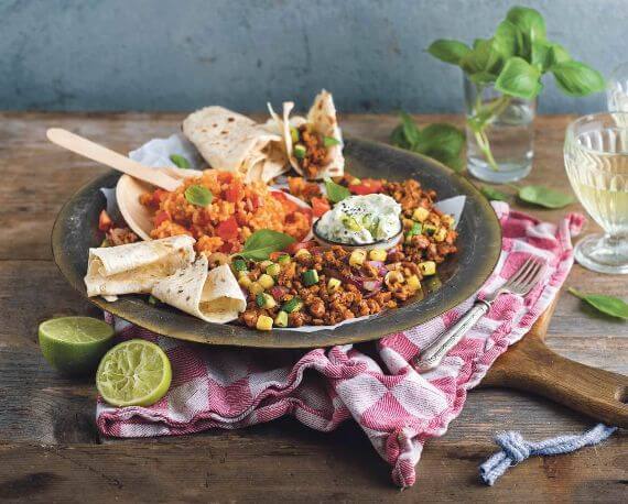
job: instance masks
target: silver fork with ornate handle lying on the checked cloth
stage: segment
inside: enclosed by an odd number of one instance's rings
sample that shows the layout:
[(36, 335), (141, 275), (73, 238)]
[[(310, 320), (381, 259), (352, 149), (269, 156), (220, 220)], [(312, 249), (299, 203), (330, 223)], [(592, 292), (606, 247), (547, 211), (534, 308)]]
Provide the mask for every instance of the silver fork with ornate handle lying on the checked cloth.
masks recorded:
[(458, 341), (470, 330), (476, 322), (488, 313), (490, 306), (501, 294), (516, 294), (526, 296), (543, 274), (545, 263), (541, 260), (530, 258), (510, 277), (506, 284), (499, 287), (485, 299), (478, 299), (473, 308), (468, 310), (454, 326), (443, 336), (423, 350), (415, 360), (419, 371), (429, 371), (440, 364), (441, 360), (454, 348)]

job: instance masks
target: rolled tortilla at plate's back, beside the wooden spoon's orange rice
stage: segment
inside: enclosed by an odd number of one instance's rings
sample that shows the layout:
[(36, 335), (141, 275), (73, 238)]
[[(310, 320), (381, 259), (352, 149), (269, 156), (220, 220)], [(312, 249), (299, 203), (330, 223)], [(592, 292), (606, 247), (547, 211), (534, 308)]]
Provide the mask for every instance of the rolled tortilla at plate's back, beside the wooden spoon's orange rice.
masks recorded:
[(205, 107), (183, 121), (183, 133), (213, 168), (269, 182), (290, 168), (282, 138), (224, 107)]

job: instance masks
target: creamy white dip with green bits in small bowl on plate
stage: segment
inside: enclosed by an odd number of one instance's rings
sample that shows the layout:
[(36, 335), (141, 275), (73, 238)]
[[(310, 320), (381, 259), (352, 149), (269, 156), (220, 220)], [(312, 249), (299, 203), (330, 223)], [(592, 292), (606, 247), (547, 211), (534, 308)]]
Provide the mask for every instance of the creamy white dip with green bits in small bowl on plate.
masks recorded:
[(390, 196), (349, 196), (316, 222), (324, 239), (345, 244), (367, 244), (389, 240), (401, 231), (401, 206)]

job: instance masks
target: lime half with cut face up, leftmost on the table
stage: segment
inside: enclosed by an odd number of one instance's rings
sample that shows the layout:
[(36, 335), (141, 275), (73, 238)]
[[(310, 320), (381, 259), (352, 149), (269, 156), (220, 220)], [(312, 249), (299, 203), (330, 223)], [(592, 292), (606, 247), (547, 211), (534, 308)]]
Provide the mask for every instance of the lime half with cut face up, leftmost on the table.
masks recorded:
[(40, 325), (40, 348), (46, 361), (67, 374), (93, 372), (111, 347), (113, 328), (91, 317), (59, 317)]

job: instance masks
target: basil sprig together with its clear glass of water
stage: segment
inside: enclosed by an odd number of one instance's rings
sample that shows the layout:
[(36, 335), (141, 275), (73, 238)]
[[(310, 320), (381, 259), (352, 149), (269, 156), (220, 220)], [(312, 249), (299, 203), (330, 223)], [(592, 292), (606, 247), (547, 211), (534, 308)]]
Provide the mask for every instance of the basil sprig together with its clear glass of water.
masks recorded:
[(464, 73), (467, 167), (486, 182), (515, 182), (532, 169), (533, 120), (544, 74), (573, 97), (605, 88), (602, 75), (549, 41), (543, 17), (524, 7), (510, 9), (490, 39), (476, 39), (470, 47), (437, 40), (427, 51)]

